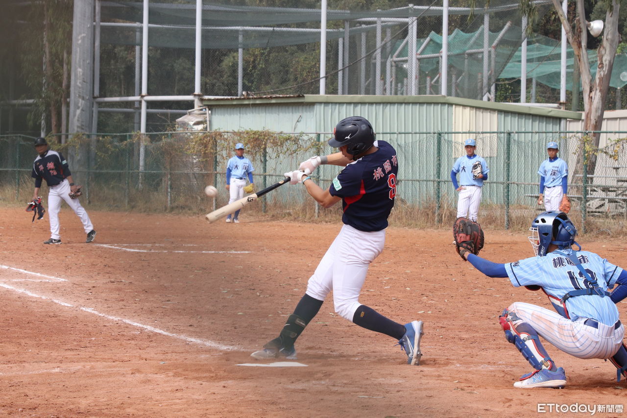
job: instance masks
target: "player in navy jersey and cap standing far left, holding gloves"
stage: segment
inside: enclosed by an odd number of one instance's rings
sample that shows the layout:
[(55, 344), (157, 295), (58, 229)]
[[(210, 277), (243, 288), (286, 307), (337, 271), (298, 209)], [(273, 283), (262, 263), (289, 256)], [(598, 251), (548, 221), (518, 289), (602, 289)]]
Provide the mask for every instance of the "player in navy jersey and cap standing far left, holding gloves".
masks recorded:
[(34, 142), (35, 149), (39, 156), (33, 162), (33, 172), (31, 177), (35, 179), (35, 190), (33, 192), (33, 201), (37, 199), (41, 188), (41, 181), (46, 180), (48, 184), (48, 215), (50, 215), (50, 239), (44, 241), (44, 244), (61, 244), (61, 236), (59, 235), (59, 210), (61, 209), (61, 201), (72, 208), (74, 213), (83, 223), (85, 233), (87, 233), (87, 243), (92, 242), (96, 237), (96, 231), (93, 229), (92, 221), (81, 206), (78, 198), (70, 198), (70, 191), (76, 192), (78, 186), (72, 181), (70, 167), (68, 162), (61, 153), (48, 149), (48, 142), (45, 138), (39, 137)]

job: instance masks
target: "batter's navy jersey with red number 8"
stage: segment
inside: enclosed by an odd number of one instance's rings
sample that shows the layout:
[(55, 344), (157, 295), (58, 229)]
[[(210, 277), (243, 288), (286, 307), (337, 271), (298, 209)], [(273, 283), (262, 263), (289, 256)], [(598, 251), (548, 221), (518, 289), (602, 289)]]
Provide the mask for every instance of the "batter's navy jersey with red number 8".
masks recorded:
[(332, 196), (342, 198), (342, 222), (365, 232), (387, 228), (396, 196), (396, 150), (386, 141), (374, 146), (379, 149), (348, 164), (329, 187)]

